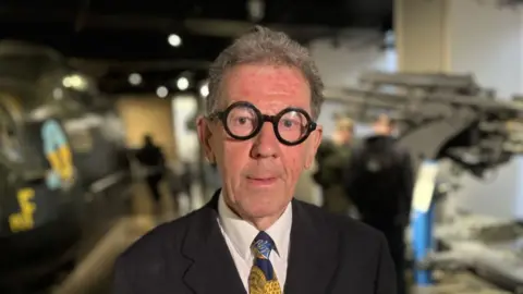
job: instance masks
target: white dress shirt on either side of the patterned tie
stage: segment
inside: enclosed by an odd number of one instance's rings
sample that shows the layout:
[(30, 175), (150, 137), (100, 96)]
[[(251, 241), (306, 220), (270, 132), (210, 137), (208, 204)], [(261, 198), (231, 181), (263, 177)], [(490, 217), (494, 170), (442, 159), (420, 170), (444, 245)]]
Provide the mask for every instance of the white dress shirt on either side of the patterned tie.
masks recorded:
[[(218, 200), (218, 223), (221, 233), (223, 234), (227, 246), (231, 252), (243, 285), (248, 293), (248, 274), (254, 265), (254, 255), (251, 250), (251, 244), (259, 231), (253, 224), (242, 220), (227, 206), (223, 199), (223, 194), (220, 195)], [(289, 204), (283, 215), (281, 215), (281, 217), (265, 231), (276, 244), (276, 250), (270, 253), (269, 260), (272, 264), (282, 293), (287, 279), (291, 225), (292, 205)]]

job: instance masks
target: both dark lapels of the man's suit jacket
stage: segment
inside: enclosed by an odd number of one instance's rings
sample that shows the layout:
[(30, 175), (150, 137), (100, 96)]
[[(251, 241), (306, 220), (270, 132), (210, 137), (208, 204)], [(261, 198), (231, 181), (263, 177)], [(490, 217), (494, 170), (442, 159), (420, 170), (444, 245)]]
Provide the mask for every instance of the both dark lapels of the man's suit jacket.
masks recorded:
[[(196, 294), (245, 294), (232, 256), (218, 225), (217, 191), (210, 201), (186, 218), (190, 222), (182, 255), (188, 260), (186, 285)], [(292, 228), (285, 293), (327, 293), (338, 264), (338, 233), (317, 208), (292, 200)], [(170, 260), (168, 264), (180, 262)], [(171, 274), (177, 274), (172, 272)]]

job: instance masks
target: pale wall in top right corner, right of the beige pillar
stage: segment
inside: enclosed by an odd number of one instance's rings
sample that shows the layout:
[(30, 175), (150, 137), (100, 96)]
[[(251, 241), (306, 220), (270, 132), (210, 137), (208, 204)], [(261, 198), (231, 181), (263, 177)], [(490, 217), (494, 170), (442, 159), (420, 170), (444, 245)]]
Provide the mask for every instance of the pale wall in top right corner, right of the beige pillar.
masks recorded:
[(482, 86), (508, 98), (523, 91), (523, 10), (498, 2), (449, 1), (450, 70), (473, 73)]

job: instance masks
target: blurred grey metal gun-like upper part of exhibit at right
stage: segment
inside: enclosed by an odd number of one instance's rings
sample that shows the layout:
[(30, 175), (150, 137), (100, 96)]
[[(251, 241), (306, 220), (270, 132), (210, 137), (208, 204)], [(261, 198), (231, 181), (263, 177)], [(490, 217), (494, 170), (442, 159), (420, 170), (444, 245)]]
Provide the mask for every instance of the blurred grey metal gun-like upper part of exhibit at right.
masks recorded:
[(448, 158), (483, 176), (523, 152), (523, 102), (497, 99), (472, 76), (369, 73), (361, 82), (326, 90), (327, 100), (349, 105), (360, 121), (390, 114), (414, 160)]

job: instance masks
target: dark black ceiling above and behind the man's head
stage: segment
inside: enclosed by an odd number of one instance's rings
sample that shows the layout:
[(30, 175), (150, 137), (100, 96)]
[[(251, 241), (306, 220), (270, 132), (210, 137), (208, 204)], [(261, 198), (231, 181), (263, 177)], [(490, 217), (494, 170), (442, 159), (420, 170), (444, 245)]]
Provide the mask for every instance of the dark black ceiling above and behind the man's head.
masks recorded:
[[(181, 72), (204, 78), (233, 37), (253, 25), (250, 0), (2, 0), (0, 38), (50, 46), (100, 77), (109, 93), (150, 91)], [(388, 30), (392, 0), (258, 0), (258, 23), (301, 42), (335, 37), (342, 28)], [(178, 34), (180, 47), (168, 44)], [(130, 73), (144, 83), (131, 87)]]

